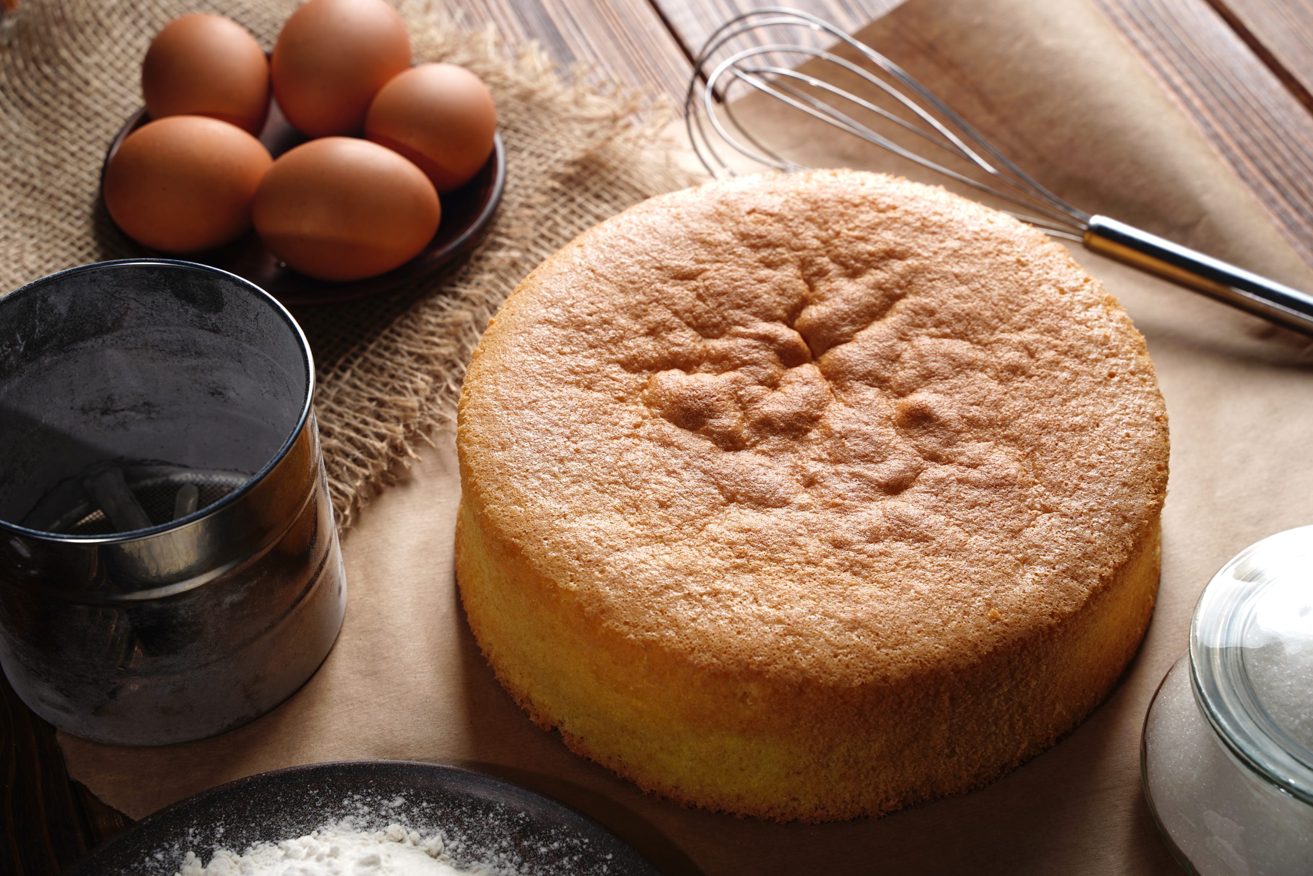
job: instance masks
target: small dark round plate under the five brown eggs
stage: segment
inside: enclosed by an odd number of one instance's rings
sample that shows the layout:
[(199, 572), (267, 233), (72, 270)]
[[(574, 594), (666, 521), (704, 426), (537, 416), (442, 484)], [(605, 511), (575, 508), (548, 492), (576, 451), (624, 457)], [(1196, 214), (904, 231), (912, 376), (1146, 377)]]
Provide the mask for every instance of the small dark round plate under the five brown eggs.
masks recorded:
[[(148, 121), (150, 116), (146, 114), (144, 108), (127, 120), (109, 144), (105, 165), (109, 164), (109, 159), (118, 151), (123, 139)], [(288, 123), (282, 110), (278, 109), (278, 102), (270, 99), (269, 117), (265, 120), (264, 130), (260, 131), (260, 142), (269, 152), (278, 158), (307, 139), (305, 134)], [(104, 176), (104, 168), (101, 168), (101, 180)], [(502, 144), (502, 135), (498, 134), (487, 164), (473, 180), (442, 196), (442, 222), (428, 247), (399, 268), (355, 282), (327, 282), (297, 273), (274, 259), (253, 231), (218, 250), (186, 255), (156, 252), (140, 246), (127, 235), (123, 235), (123, 239), (135, 250), (135, 255), (186, 259), (222, 268), (249, 280), (284, 303), (319, 305), (353, 301), (391, 292), (412, 280), (439, 271), (473, 250), (474, 244), (483, 238), (483, 232), (492, 221), (492, 214), (496, 213), (503, 188), (506, 188), (506, 148)]]

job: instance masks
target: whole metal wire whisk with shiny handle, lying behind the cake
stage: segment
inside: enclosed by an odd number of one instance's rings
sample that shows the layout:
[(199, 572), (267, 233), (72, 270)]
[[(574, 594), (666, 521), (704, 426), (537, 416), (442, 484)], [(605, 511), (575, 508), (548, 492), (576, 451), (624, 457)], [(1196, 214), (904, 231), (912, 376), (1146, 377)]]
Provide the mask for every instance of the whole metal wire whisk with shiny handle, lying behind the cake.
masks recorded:
[[(783, 39), (781, 33), (786, 34)], [(742, 50), (726, 47), (737, 38), (758, 34), (769, 37), (763, 45)], [(838, 51), (851, 58), (809, 45), (807, 35), (813, 41), (817, 35), (832, 38)], [(810, 63), (802, 71), (786, 60)], [(815, 72), (819, 70), (826, 72)], [(867, 96), (850, 91), (844, 80), (860, 85)], [(684, 106), (689, 139), (712, 175), (735, 173), (725, 159), (726, 148), (765, 167), (806, 169), (741, 122), (730, 101), (735, 88), (768, 95), (844, 134), (999, 198), (1007, 213), (1050, 235), (1079, 240), (1094, 252), (1313, 335), (1313, 296), (1071, 206), (1004, 158), (928, 88), (823, 18), (783, 7), (730, 18), (699, 55)]]

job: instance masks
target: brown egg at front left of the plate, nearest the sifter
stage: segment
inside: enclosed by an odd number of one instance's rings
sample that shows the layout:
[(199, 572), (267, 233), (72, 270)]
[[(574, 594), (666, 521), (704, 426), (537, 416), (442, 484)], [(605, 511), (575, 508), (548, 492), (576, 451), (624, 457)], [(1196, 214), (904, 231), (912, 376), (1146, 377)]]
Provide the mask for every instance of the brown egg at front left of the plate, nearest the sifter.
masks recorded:
[(127, 135), (105, 168), (105, 206), (152, 250), (197, 252), (251, 227), (269, 151), (244, 130), (204, 116), (169, 116)]

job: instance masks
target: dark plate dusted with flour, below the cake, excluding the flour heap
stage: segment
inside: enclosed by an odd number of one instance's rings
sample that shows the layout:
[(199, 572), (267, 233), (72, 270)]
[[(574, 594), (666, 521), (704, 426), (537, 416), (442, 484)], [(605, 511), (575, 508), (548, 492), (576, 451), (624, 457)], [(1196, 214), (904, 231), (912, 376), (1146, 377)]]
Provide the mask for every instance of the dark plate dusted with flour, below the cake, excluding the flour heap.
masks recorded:
[[(362, 813), (372, 812), (372, 816)], [(457, 864), (515, 873), (659, 876), (633, 848), (583, 813), (470, 770), (406, 760), (314, 763), (263, 772), (160, 809), (70, 871), (70, 876), (173, 876), (186, 852), (244, 852), (345, 816), (440, 830)]]

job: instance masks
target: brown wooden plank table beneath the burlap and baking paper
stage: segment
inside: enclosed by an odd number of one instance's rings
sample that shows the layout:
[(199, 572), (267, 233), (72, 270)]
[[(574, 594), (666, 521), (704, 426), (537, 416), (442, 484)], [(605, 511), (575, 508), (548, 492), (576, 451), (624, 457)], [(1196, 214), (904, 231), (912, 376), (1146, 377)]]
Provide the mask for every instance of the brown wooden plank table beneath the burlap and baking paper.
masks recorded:
[[(969, 1), (969, 0), (962, 0)], [(898, 0), (793, 0), (857, 28)], [(1313, 263), (1313, 0), (1095, 0)], [(751, 0), (446, 0), (538, 39), (599, 84), (683, 99), (691, 58)], [(0, 873), (56, 873), (130, 822), (64, 771), (50, 725), (0, 680)]]

